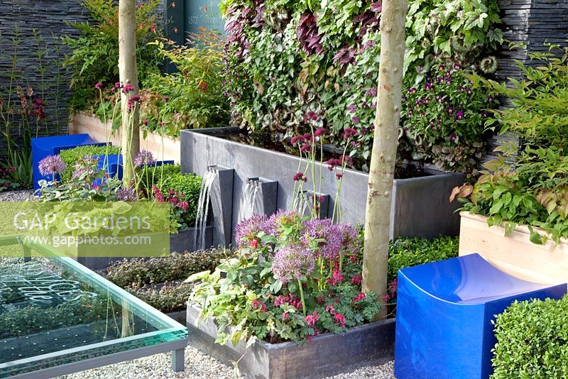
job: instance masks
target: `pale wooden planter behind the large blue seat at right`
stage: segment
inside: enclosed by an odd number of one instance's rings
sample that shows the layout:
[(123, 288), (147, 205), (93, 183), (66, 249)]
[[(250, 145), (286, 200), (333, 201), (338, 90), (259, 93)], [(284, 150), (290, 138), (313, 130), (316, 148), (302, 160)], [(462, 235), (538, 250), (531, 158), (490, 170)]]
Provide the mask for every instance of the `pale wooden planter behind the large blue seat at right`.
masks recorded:
[[(536, 231), (540, 229), (535, 228)], [(542, 231), (544, 234), (544, 231)], [(529, 240), (527, 226), (505, 236), (502, 226), (487, 226), (487, 218), (461, 212), (459, 255), (479, 253), (489, 263), (517, 278), (547, 284), (568, 282), (568, 244)]]

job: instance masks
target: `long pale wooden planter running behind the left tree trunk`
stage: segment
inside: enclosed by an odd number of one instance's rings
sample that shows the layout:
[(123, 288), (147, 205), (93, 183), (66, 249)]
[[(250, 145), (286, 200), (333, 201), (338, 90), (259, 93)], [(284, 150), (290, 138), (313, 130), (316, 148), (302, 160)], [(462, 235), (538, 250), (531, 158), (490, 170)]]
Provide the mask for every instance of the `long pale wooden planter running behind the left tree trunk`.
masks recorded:
[[(87, 133), (94, 141), (111, 142), (115, 146), (120, 146), (120, 131), (111, 133), (111, 123), (106, 125), (97, 117), (88, 114), (73, 114), (69, 121), (69, 133), (80, 134)], [(180, 163), (180, 140), (178, 138), (170, 138), (167, 136), (159, 136), (155, 133), (148, 133), (146, 139), (140, 133), (140, 148), (149, 150), (153, 153), (156, 160), (174, 160)]]

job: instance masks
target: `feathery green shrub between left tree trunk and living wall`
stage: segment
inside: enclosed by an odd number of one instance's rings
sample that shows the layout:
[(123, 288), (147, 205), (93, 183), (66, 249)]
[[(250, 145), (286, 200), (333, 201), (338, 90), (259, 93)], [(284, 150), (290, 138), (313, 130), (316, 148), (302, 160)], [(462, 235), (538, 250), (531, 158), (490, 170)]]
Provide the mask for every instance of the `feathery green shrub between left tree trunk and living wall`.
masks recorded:
[(194, 35), (189, 43), (178, 47), (155, 42), (160, 56), (178, 72), (154, 73), (144, 83), (141, 118), (148, 122), (149, 131), (178, 137), (185, 128), (229, 123), (229, 103), (222, 88), (222, 38), (209, 31)]

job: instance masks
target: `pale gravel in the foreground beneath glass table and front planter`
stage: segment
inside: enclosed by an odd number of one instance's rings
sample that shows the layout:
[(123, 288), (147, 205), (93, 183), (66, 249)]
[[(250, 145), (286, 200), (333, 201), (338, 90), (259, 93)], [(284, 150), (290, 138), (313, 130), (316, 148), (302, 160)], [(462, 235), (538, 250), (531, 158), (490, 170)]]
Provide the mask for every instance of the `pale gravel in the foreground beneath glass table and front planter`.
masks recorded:
[[(185, 372), (174, 373), (169, 353), (156, 354), (134, 361), (117, 363), (102, 368), (65, 375), (59, 379), (233, 379), (233, 368), (214, 360), (211, 356), (188, 346), (185, 349)], [(382, 366), (359, 368), (328, 379), (392, 379), (393, 362)], [(293, 379), (293, 378), (290, 378)]]

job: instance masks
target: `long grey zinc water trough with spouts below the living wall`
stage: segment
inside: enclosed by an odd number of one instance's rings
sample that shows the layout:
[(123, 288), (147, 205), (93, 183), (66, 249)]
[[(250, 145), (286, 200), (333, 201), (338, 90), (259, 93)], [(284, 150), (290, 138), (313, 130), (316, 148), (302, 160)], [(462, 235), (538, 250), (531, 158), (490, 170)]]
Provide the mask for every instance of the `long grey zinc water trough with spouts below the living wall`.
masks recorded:
[[(182, 131), (181, 165), (182, 172), (195, 172), (204, 175), (207, 167), (222, 166), (234, 169), (231, 192), (232, 224), (234, 228), (242, 214), (244, 187), (251, 178), (262, 178), (277, 182), (277, 209), (290, 209), (293, 199), (293, 176), (305, 167), (300, 158), (277, 151), (258, 148), (236, 141), (226, 136), (234, 136), (233, 128), (200, 129), (200, 131)], [(219, 136), (224, 136), (220, 138)], [(301, 164), (301, 165), (300, 165)], [(320, 172), (320, 164), (316, 164)], [(440, 235), (459, 233), (459, 215), (455, 213), (458, 205), (450, 204), (448, 197), (452, 188), (461, 185), (464, 175), (445, 173), (427, 169), (427, 176), (410, 179), (397, 179), (393, 188), (391, 209), (391, 238), (398, 236), (435, 238)], [(311, 175), (311, 174), (309, 174)], [(311, 177), (311, 176), (310, 176)], [(312, 191), (311, 179), (304, 189)], [(317, 185), (322, 195), (329, 195), (327, 214), (333, 214), (337, 183), (333, 172), (327, 165), (322, 167), (322, 187)], [(342, 180), (340, 204), (344, 220), (351, 224), (364, 223), (368, 174), (356, 170), (346, 170)], [(389, 215), (386, 215), (389, 216)]]

